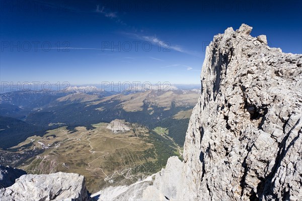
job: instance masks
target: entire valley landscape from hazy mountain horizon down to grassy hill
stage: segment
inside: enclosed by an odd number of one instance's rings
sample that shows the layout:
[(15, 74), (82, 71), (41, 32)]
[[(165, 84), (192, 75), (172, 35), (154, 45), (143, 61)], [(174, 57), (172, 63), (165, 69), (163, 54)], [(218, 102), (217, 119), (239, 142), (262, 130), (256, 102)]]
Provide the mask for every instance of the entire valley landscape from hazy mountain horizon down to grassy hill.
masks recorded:
[(170, 156), (181, 158), (199, 95), (198, 89), (118, 93), (93, 86), (2, 93), (0, 163), (38, 174), (77, 172), (93, 192), (112, 180), (131, 184)]

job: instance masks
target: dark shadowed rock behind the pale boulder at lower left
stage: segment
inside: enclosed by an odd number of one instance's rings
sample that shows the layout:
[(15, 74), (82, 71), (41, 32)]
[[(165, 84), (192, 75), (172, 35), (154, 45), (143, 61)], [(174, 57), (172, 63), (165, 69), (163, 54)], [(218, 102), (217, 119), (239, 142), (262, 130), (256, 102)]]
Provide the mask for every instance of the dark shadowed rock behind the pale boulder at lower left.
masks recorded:
[(0, 188), (6, 188), (13, 185), (16, 179), (23, 174), (26, 174), (26, 171), (22, 169), (0, 165)]

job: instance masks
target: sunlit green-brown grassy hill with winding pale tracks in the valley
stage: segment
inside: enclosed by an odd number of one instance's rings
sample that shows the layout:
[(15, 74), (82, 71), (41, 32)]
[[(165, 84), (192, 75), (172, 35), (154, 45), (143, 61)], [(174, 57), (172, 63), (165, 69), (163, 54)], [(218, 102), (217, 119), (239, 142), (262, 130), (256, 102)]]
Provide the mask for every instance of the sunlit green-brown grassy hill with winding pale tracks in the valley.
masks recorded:
[(106, 123), (93, 126), (92, 130), (77, 127), (76, 132), (62, 127), (42, 137), (29, 137), (14, 149), (41, 149), (42, 143), (48, 148), (20, 168), (38, 174), (79, 173), (86, 177), (90, 192), (95, 192), (109, 185), (130, 184), (155, 173), (166, 165), (170, 156), (176, 155), (171, 140), (137, 125), (135, 132), (120, 134), (106, 129)]

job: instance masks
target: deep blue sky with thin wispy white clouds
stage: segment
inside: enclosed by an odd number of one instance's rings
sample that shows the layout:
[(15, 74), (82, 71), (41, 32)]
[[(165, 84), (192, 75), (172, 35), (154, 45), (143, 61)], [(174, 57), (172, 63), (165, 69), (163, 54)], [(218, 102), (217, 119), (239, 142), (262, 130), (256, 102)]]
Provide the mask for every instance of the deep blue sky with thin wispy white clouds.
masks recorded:
[(205, 46), (242, 23), (302, 52), (301, 1), (1, 1), (1, 81), (200, 83)]

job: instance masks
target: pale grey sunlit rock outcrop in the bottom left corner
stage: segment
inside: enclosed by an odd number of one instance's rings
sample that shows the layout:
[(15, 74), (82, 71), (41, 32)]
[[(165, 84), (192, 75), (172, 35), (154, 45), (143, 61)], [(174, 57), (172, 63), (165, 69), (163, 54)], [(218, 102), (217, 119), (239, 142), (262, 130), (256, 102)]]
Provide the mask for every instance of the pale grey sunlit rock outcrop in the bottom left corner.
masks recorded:
[(0, 189), (0, 200), (91, 200), (84, 176), (75, 173), (27, 174), (8, 188)]

